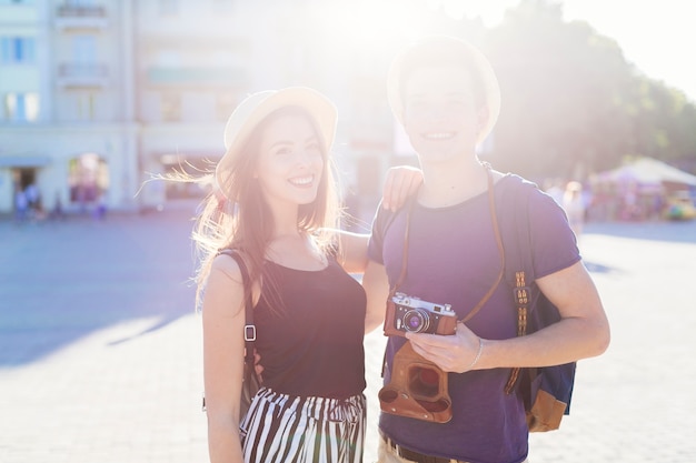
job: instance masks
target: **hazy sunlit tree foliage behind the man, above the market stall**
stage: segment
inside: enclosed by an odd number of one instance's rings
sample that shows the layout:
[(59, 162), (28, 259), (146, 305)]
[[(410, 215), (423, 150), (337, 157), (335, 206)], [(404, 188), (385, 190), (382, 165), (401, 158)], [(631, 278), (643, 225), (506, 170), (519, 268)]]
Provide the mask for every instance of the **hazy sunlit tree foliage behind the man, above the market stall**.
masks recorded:
[(696, 107), (638, 72), (613, 39), (564, 21), (559, 4), (523, 0), (483, 48), (503, 93), (488, 154), (498, 168), (583, 179), (626, 157), (696, 158)]

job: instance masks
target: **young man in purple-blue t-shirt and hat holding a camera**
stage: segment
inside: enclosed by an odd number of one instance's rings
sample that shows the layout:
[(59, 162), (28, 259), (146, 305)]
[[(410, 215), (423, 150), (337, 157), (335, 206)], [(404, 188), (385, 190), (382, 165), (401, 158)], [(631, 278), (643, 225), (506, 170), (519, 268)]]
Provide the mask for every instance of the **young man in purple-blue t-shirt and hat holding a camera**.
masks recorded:
[(410, 207), (380, 210), (375, 219), (364, 278), (368, 330), (382, 322), (395, 285), (434, 305), (451, 304), (458, 320), (490, 294), (466, 323), (457, 323), (455, 335), (389, 338), (385, 383), (394, 374), (395, 354), (410, 342), (417, 354), (449, 372), (453, 416), (434, 423), (382, 413), (379, 461), (524, 462), (524, 405), (518, 394), (504, 392), (510, 369), (601, 354), (609, 343), (601, 302), (563, 210), (535, 190), (527, 207), (535, 283), (561, 320), (517, 336), (513, 291), (500, 281), (496, 229), (505, 218), (494, 219), (494, 208), (515, 198), (521, 182), (476, 155), (500, 102), (496, 77), (479, 51), (455, 38), (426, 38), (396, 57), (388, 97), (418, 153), (424, 183)]

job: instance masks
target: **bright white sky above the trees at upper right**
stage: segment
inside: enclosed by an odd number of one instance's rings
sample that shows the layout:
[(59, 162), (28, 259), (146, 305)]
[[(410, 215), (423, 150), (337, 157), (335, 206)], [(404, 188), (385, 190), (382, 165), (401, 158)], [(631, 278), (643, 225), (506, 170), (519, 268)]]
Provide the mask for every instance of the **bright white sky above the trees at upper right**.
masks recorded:
[[(556, 0), (566, 20), (587, 21), (616, 40), (624, 56), (646, 76), (684, 91), (696, 102), (696, 28), (684, 0)], [(440, 0), (450, 14), (480, 16), (496, 26), (519, 0)]]

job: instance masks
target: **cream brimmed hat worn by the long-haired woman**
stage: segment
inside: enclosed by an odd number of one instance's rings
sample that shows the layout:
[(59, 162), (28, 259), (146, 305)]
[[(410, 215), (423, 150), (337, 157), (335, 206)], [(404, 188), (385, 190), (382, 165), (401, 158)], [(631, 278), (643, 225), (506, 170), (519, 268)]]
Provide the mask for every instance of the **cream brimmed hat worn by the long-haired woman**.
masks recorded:
[(307, 87), (288, 87), (252, 93), (239, 103), (225, 125), (226, 152), (215, 170), (218, 188), (225, 184), (225, 172), (230, 170), (233, 161), (240, 155), (253, 129), (269, 114), (285, 107), (302, 108), (314, 118), (321, 142), (329, 152), (338, 119), (331, 100)]

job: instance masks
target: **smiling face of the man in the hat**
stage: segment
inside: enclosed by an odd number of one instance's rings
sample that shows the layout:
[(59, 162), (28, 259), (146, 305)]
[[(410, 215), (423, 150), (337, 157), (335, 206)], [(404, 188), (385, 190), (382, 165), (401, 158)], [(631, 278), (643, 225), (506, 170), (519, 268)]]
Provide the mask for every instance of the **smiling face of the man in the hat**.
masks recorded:
[(405, 83), (404, 100), (404, 128), (421, 163), (474, 155), (487, 113), (477, 108), (466, 69), (418, 69)]

